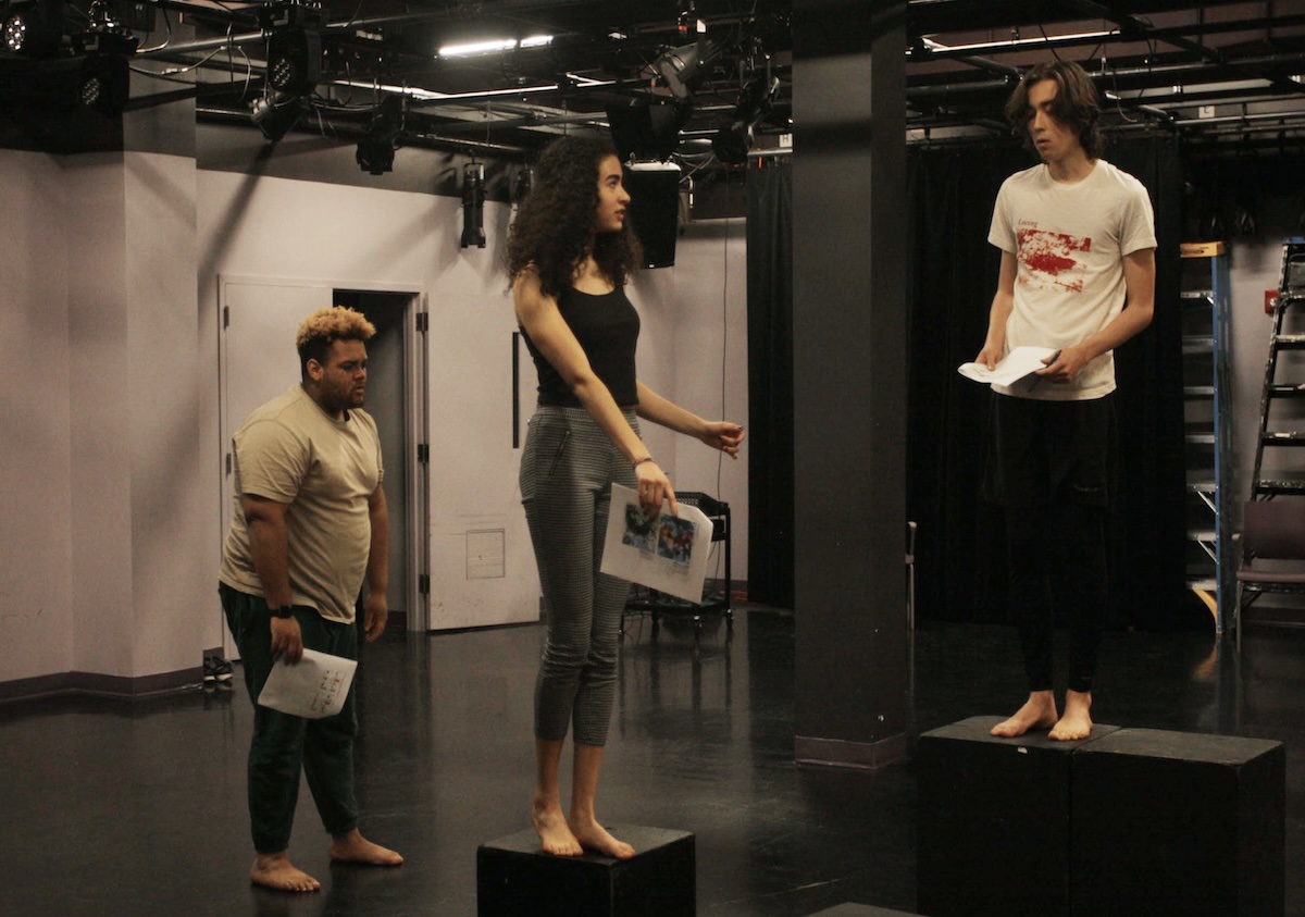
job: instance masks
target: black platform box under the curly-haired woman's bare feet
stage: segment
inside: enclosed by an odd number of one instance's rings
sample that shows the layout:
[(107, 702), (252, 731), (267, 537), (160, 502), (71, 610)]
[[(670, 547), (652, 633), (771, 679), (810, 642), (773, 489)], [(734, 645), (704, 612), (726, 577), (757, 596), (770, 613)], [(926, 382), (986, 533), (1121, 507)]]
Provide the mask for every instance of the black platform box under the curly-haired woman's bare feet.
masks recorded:
[(594, 853), (553, 857), (527, 828), (476, 850), (479, 917), (693, 917), (697, 866), (693, 835), (616, 826), (633, 860)]

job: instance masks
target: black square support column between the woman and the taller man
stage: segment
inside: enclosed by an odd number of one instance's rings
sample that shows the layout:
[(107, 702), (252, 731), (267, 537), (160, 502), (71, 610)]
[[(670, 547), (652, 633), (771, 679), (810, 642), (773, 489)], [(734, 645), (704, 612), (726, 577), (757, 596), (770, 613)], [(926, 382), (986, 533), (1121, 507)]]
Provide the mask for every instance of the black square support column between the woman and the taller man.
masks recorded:
[(906, 751), (907, 4), (793, 0), (796, 756)]

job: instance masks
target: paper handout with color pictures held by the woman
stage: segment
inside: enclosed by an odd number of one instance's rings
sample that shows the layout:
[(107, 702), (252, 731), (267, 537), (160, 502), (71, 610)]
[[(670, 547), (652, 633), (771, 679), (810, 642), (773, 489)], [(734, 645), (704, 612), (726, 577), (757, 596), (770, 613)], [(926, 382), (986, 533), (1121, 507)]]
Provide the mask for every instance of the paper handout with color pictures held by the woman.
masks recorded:
[(702, 602), (714, 526), (697, 507), (680, 503), (679, 508), (680, 515), (672, 516), (663, 504), (663, 511), (649, 519), (638, 494), (613, 483), (602, 572), (686, 602)]

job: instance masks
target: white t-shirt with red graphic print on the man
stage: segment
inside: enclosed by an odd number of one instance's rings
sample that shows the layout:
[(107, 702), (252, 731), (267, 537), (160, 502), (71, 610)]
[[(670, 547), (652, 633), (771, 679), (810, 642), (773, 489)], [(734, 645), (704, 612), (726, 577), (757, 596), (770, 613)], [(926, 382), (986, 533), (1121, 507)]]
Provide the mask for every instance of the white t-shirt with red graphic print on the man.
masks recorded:
[[(1124, 310), (1124, 256), (1155, 248), (1155, 217), (1146, 187), (1104, 159), (1073, 184), (1054, 182), (1037, 165), (1002, 183), (988, 242), (1018, 261), (1006, 353), (1064, 347)], [(1069, 383), (993, 388), (1047, 400), (1099, 398), (1114, 391), (1114, 354), (1101, 354)]]

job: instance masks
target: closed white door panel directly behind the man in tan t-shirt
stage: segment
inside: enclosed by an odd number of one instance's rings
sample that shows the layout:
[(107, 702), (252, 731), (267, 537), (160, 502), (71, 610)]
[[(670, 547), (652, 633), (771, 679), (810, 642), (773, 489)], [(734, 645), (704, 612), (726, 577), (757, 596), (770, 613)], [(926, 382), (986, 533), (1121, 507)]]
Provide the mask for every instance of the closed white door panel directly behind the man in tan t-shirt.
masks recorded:
[[(331, 304), (329, 285), (221, 278), (218, 303), (222, 398), (222, 537), (235, 512), (231, 435), (266, 401), (299, 381), (295, 334), (309, 312)], [(226, 658), (238, 658), (222, 626)]]

